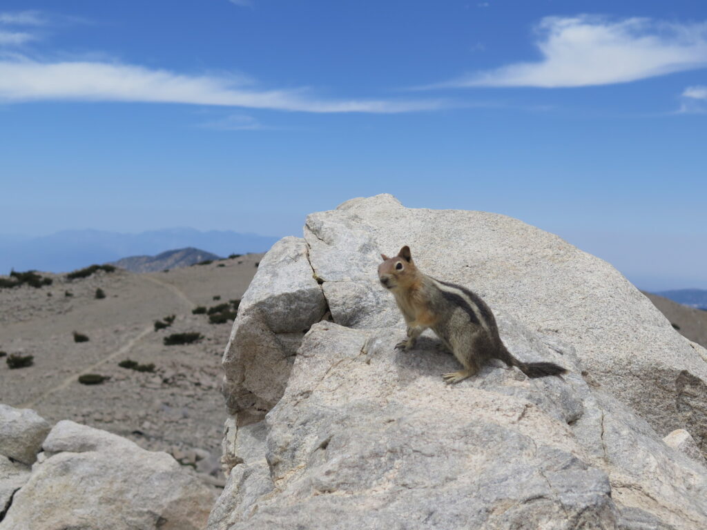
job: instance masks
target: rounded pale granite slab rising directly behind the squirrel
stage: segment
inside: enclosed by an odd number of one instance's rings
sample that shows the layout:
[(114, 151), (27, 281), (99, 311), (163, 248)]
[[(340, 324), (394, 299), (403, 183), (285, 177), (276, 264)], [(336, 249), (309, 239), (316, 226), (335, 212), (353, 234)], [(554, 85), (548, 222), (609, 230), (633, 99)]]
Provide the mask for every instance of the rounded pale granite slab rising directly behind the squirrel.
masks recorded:
[(305, 240), (334, 322), (401, 322), (376, 271), (378, 254), (410, 245), (426, 273), (466, 285), (493, 310), (572, 344), (591, 377), (662, 435), (684, 427), (700, 447), (707, 441), (701, 353), (619, 271), (560, 237), (506, 216), (404, 208), (379, 195), (312, 213)]

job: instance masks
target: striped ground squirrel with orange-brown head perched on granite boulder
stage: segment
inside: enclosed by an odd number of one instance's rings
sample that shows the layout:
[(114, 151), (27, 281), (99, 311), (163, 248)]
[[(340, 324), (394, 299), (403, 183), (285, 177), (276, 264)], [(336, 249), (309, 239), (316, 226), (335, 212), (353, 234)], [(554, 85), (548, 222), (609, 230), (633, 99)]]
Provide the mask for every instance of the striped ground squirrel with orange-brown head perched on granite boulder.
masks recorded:
[(487, 360), (501, 359), (517, 366), (528, 377), (560, 375), (567, 370), (554, 363), (522, 363), (513, 357), (498, 335), (491, 308), (470, 290), (438, 281), (415, 266), (410, 247), (402, 247), (396, 257), (380, 254), (378, 278), (395, 296), (407, 322), (407, 338), (395, 348), (405, 351), (427, 328), (431, 328), (446, 348), (462, 363), (464, 370), (442, 377), (447, 383), (458, 383), (477, 373)]

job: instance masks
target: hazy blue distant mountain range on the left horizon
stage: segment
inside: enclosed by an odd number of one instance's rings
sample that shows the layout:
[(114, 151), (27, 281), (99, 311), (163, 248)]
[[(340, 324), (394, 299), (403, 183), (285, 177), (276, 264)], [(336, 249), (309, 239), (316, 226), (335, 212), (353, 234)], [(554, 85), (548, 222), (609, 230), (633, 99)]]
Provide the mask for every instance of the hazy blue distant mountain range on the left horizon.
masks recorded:
[(66, 272), (127, 256), (153, 256), (170, 249), (195, 247), (219, 256), (265, 252), (279, 238), (226, 230), (200, 232), (168, 228), (139, 234), (102, 230), (64, 230), (43, 237), (0, 235), (0, 273), (11, 269)]

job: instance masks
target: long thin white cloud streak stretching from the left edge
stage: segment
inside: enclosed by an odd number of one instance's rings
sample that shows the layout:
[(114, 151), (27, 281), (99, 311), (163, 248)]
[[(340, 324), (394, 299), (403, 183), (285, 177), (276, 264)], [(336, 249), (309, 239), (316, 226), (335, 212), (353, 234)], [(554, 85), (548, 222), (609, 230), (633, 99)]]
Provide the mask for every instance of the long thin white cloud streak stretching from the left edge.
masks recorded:
[(100, 61), (0, 59), (0, 101), (89, 100), (185, 103), (301, 112), (435, 110), (440, 100), (327, 100), (309, 90), (256, 90), (231, 78)]

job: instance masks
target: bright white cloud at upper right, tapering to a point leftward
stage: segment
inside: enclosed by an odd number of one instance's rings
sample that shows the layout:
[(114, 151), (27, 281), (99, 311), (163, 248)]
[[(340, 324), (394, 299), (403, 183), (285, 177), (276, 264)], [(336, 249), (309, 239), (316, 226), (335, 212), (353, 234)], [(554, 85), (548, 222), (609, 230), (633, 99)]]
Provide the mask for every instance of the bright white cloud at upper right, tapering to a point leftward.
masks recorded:
[(542, 60), (423, 88), (609, 85), (707, 66), (707, 23), (580, 15), (543, 18), (535, 30)]

